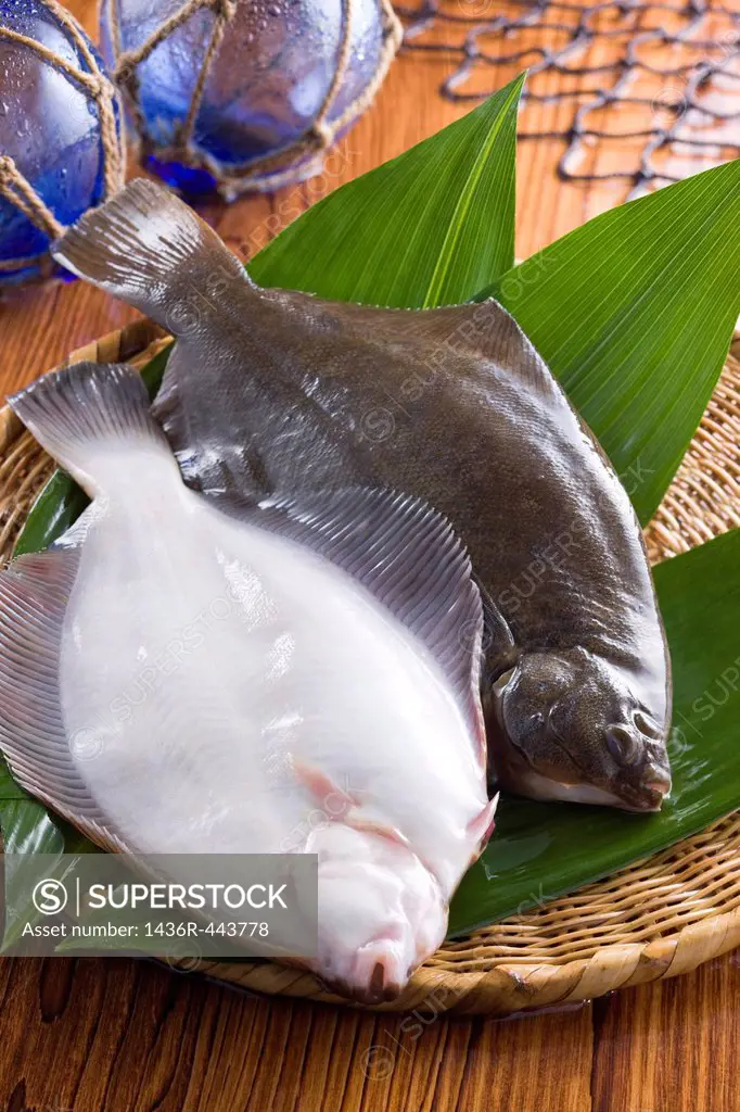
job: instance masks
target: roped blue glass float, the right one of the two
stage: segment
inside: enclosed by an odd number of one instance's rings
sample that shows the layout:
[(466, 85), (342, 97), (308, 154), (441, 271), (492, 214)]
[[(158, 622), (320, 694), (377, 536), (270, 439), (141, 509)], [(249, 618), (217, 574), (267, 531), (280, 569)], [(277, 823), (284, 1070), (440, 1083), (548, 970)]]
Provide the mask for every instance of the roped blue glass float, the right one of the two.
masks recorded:
[(103, 0), (101, 17), (143, 163), (229, 199), (316, 172), (399, 41), (389, 0)]

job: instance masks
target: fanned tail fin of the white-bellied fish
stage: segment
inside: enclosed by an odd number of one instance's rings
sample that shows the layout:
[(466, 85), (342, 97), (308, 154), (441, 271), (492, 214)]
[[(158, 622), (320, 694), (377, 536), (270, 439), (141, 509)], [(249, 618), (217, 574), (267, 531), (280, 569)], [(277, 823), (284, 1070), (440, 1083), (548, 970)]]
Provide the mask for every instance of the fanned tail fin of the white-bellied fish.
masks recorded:
[(78, 363), (37, 379), (8, 404), (91, 496), (106, 485), (107, 461), (120, 466), (123, 445), (129, 456), (130, 449), (138, 447), (151, 459), (153, 449), (176, 466), (164, 435), (149, 413), (141, 376), (126, 364)]

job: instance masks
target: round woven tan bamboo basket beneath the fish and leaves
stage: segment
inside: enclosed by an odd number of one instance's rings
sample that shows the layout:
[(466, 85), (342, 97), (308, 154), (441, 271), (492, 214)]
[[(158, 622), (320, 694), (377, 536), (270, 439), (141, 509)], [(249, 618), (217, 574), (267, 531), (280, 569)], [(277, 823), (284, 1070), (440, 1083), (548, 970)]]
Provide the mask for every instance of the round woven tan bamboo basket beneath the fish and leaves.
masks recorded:
[[(141, 367), (168, 338), (148, 321), (69, 363)], [(53, 464), (0, 410), (0, 559)], [(647, 530), (657, 563), (740, 526), (740, 338), (689, 453)], [(448, 942), (382, 1011), (507, 1015), (588, 1000), (696, 969), (740, 945), (740, 811), (608, 880)], [(342, 1003), (310, 974), (267, 962), (176, 962), (256, 993)]]

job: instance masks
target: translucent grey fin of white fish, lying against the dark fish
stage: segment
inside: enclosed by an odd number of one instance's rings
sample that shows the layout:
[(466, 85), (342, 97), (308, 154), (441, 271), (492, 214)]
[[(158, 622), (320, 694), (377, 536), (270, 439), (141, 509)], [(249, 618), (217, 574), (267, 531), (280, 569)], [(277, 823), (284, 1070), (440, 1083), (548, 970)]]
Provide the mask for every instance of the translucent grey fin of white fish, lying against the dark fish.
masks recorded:
[(482, 733), (481, 597), (446, 517), (409, 495), (364, 488), (270, 498), (243, 514), (366, 587), (433, 655)]

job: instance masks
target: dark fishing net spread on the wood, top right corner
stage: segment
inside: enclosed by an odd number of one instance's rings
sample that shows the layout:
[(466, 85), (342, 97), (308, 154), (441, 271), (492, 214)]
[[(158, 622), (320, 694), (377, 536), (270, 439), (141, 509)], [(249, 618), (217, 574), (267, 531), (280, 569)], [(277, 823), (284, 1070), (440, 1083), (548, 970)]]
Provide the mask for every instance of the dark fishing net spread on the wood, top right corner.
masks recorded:
[(407, 50), (452, 59), (449, 99), (480, 100), (529, 68), (520, 136), (561, 139), (566, 180), (622, 180), (634, 196), (740, 155), (740, 0), (423, 0), (397, 11)]

